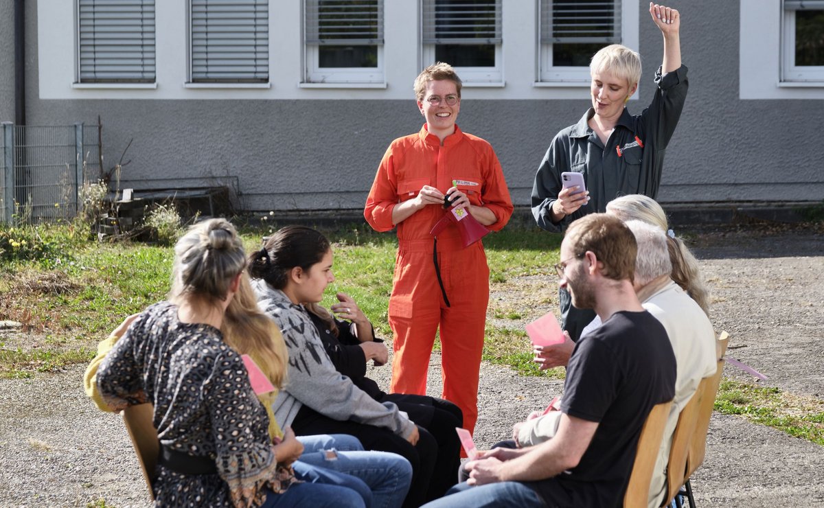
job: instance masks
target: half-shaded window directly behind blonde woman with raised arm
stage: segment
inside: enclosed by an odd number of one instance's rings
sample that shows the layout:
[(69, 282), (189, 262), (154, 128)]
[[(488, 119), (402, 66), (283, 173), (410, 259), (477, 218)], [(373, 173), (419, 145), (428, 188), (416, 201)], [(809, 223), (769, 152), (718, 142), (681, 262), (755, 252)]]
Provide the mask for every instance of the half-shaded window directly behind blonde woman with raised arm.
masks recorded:
[(598, 49), (621, 42), (621, 0), (540, 0), (541, 82), (589, 82)]

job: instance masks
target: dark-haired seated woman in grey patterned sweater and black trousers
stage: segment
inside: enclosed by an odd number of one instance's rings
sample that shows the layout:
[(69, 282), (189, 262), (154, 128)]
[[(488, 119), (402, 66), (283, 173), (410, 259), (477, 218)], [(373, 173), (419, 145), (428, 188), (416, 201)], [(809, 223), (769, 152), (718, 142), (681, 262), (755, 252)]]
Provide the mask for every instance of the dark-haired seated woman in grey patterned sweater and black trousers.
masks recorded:
[(250, 276), (261, 310), (274, 319), (289, 349), (289, 384), (274, 402), (274, 413), (298, 435), (355, 436), (367, 450), (404, 456), (412, 464), (405, 506), (420, 506), (428, 492), (438, 454), (428, 431), (415, 426), (394, 403), (379, 403), (335, 370), (302, 304), (319, 302), (335, 280), (332, 250), (321, 233), (287, 226), (251, 254)]

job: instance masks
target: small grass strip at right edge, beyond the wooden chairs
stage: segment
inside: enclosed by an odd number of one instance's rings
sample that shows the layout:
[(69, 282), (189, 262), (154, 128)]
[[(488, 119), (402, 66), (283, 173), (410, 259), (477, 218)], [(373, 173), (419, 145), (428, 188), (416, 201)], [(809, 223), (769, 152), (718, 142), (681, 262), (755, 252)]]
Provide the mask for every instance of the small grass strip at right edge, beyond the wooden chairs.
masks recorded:
[(824, 403), (777, 388), (722, 380), (715, 410), (824, 445)]

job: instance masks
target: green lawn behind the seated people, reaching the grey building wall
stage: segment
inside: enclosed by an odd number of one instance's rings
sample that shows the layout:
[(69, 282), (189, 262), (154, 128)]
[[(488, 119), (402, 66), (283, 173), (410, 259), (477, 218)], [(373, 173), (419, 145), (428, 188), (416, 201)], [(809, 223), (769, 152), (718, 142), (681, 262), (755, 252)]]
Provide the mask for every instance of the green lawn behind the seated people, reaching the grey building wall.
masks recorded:
[[(271, 231), (274, 228), (268, 225), (241, 227), (247, 251), (260, 249), (261, 238)], [(387, 307), (396, 236), (376, 233), (364, 225), (324, 232), (333, 244), (337, 280), (327, 289), (323, 305), (334, 303), (337, 291), (349, 293), (372, 319), (377, 333), (391, 337)], [(14, 234), (20, 235), (20, 229)], [(17, 352), (0, 357), (3, 375), (30, 375), (87, 361), (96, 343), (125, 316), (162, 300), (168, 291), (171, 247), (100, 244), (86, 240), (72, 224), (32, 227), (26, 235), (48, 243), (49, 255), (18, 259), (0, 271), (0, 319), (20, 321), (26, 332), (46, 339), (28, 347), (31, 351), (19, 345), (30, 357), (20, 357)], [(513, 277), (550, 273), (547, 267), (557, 262), (559, 242), (559, 235), (532, 228), (508, 228), (488, 235), (485, 246), (493, 286), (506, 285)], [(521, 310), (496, 312), (509, 320), (525, 317)], [(42, 357), (35, 351), (37, 347), (46, 347), (57, 357)], [(485, 358), (490, 361), (535, 375), (531, 361), (524, 360), (528, 351), (522, 331), (495, 326), (488, 330)]]

